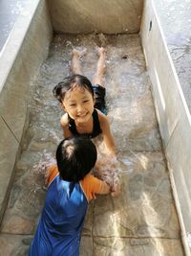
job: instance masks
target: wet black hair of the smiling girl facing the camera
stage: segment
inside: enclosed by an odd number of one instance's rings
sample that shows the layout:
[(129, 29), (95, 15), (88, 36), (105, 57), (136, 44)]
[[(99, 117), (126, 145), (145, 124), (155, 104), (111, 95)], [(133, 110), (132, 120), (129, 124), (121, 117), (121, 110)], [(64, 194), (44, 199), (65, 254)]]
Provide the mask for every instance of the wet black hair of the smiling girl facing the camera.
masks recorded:
[(91, 81), (89, 81), (86, 77), (78, 74), (74, 74), (65, 78), (63, 81), (58, 82), (58, 84), (53, 88), (53, 96), (60, 103), (62, 103), (65, 94), (70, 90), (73, 91), (74, 87), (76, 86), (87, 89), (94, 97), (94, 89)]

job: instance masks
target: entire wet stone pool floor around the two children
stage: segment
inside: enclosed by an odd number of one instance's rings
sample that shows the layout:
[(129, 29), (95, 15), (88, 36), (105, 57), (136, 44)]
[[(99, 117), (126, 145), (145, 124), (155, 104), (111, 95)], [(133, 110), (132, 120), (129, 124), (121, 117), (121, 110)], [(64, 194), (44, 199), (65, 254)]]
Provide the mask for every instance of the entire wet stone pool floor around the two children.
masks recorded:
[(182, 256), (180, 224), (161, 149), (151, 84), (138, 35), (56, 35), (33, 82), (30, 126), (16, 164), (11, 198), (1, 225), (0, 255), (26, 255), (46, 188), (43, 162), (51, 162), (62, 139), (62, 110), (53, 86), (70, 74), (72, 49), (88, 49), (85, 76), (96, 71), (96, 46), (107, 52), (108, 116), (116, 140), (121, 195), (90, 203), (81, 256)]

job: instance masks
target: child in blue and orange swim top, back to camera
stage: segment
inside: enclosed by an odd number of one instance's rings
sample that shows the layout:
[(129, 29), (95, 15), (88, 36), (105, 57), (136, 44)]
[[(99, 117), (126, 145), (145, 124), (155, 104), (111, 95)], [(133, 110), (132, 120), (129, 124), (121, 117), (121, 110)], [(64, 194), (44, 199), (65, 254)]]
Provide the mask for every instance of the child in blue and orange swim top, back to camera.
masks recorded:
[(96, 146), (89, 138), (61, 141), (56, 161), (48, 170), (45, 205), (28, 256), (78, 256), (88, 201), (110, 192), (109, 185), (90, 174)]

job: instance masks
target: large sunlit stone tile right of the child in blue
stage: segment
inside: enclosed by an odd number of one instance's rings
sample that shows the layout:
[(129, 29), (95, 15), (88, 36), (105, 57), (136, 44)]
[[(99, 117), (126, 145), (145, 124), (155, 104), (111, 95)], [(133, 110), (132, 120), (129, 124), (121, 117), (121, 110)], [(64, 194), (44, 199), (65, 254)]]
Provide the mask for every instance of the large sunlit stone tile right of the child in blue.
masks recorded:
[(94, 236), (179, 238), (179, 221), (162, 154), (134, 152), (120, 159), (126, 160), (121, 164), (121, 195), (96, 199)]

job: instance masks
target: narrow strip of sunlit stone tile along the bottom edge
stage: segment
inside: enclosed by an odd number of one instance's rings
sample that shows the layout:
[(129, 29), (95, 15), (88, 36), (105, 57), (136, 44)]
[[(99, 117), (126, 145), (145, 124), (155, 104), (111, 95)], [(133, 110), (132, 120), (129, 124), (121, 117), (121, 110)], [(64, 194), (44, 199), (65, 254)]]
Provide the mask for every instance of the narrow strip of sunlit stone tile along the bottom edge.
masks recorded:
[(183, 256), (179, 240), (96, 238), (94, 256)]

